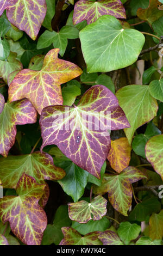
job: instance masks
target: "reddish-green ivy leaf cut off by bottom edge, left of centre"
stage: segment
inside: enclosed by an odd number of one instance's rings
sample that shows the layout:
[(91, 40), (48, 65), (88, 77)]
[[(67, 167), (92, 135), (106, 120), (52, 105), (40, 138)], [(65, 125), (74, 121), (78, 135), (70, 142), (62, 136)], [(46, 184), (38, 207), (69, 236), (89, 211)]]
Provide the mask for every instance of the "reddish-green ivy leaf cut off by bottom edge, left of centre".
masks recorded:
[(62, 227), (61, 230), (64, 234), (64, 239), (59, 245), (102, 245), (102, 242), (98, 239), (101, 234), (99, 231), (82, 236), (77, 230), (70, 227)]

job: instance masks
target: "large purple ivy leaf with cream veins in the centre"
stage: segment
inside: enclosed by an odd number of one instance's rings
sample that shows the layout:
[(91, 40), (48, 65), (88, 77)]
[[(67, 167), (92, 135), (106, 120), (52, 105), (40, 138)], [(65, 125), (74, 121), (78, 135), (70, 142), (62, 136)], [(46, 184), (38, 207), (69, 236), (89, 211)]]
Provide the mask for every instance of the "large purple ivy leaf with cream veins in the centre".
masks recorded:
[[(101, 127), (97, 127), (100, 116), (103, 121)], [(56, 118), (58, 121), (54, 122)], [(87, 120), (91, 120), (91, 127)], [(41, 150), (46, 145), (56, 144), (80, 168), (100, 179), (101, 167), (110, 149), (108, 130), (129, 127), (129, 123), (115, 95), (104, 86), (93, 86), (75, 107), (44, 108), (40, 126)]]

